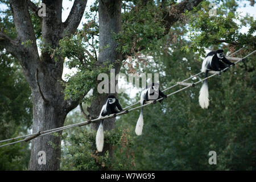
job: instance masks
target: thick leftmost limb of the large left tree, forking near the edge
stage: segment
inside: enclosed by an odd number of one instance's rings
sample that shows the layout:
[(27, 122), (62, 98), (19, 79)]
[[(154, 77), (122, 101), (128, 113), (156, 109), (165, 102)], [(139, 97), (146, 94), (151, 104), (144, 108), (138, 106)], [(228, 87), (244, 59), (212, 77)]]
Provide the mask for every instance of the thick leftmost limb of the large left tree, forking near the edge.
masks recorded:
[[(32, 89), (36, 88), (35, 68), (34, 65), (40, 61), (38, 47), (36, 46), (36, 38), (30, 13), (28, 12), (27, 0), (10, 0), (11, 12), (15, 24), (17, 36), (16, 40), (11, 40), (5, 36), (2, 40), (8, 52), (19, 60), (23, 68), (24, 76), (30, 83)], [(4, 36), (2, 34), (2, 36)], [(22, 43), (26, 44), (23, 46)], [(34, 76), (31, 76), (34, 75)]]

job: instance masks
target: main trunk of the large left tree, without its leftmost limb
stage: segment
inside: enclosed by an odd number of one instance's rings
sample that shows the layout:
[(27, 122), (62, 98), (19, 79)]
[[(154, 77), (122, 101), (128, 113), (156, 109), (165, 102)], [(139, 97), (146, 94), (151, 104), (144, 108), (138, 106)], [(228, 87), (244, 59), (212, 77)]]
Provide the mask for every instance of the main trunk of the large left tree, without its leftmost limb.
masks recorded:
[[(75, 0), (67, 20), (63, 23), (61, 22), (62, 0), (43, 0), (46, 4), (46, 16), (42, 18), (43, 46), (51, 46), (55, 49), (63, 36), (75, 33), (86, 2), (86, 0)], [(79, 101), (64, 100), (64, 87), (60, 83), (64, 60), (60, 57), (55, 60), (48, 50), (43, 50), (41, 59), (36, 63), (34, 68), (28, 69), (32, 74), (27, 77), (28, 82), (32, 83), (33, 133), (62, 127), (69, 111), (79, 104)], [(35, 81), (36, 69), (38, 69), (38, 82)], [(29, 170), (59, 170), (61, 134), (60, 131), (59, 136), (50, 134), (32, 140)], [(38, 163), (39, 151), (46, 153), (46, 164)]]

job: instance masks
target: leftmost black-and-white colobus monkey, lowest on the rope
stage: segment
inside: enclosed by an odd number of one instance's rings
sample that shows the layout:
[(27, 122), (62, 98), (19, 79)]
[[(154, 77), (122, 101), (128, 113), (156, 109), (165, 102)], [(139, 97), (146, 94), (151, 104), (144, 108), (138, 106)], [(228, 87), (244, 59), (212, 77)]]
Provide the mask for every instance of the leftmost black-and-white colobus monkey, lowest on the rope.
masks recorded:
[[(106, 104), (102, 106), (100, 117), (104, 117), (105, 115), (110, 115), (110, 114), (117, 114), (119, 111), (117, 108), (122, 111), (122, 106), (119, 104), (118, 98), (116, 98), (113, 95), (110, 95), (108, 97), (108, 100), (106, 101)], [(100, 126), (98, 127), (97, 130), (97, 135), (96, 135), (96, 147), (98, 152), (102, 152), (104, 146), (104, 130), (103, 130), (103, 125), (102, 125), (102, 120), (100, 123)]]

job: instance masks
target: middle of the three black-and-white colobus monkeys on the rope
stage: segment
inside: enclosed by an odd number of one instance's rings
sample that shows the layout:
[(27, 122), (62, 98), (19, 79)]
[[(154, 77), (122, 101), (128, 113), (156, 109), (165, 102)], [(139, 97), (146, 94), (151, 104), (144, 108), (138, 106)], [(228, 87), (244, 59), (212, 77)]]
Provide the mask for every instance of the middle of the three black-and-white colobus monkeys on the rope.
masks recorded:
[[(159, 89), (158, 83), (152, 83), (151, 85), (148, 85), (141, 93), (141, 105), (144, 104), (145, 101), (152, 101), (152, 100), (158, 100), (159, 98), (167, 98), (167, 96), (161, 92)], [(160, 100), (159, 102), (162, 102)], [(135, 127), (135, 134), (141, 135), (142, 129), (143, 129), (143, 107), (141, 107), (141, 114), (139, 115), (136, 127)]]

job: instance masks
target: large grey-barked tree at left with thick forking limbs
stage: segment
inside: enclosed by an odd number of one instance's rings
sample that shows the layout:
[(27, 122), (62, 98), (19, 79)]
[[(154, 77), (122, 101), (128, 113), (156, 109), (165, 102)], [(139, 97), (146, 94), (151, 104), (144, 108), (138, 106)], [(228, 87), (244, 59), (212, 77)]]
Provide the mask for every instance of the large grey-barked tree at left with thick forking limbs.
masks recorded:
[[(75, 1), (74, 6), (65, 22), (61, 22), (62, 1), (43, 1), (46, 4), (46, 16), (36, 17), (38, 24), (32, 24), (32, 13), (37, 15), (38, 8), (31, 1), (2, 1), (10, 3), (15, 30), (1, 27), (0, 45), (7, 52), (19, 60), (30, 89), (33, 103), (33, 133), (63, 126), (67, 113), (77, 106), (77, 101), (64, 100), (64, 86), (61, 85), (64, 59), (58, 57), (55, 60), (48, 47), (56, 48), (59, 40), (64, 36), (74, 34), (80, 23), (87, 1)], [(36, 28), (34, 28), (34, 26)], [(7, 29), (6, 29), (7, 28)], [(40, 28), (40, 31), (37, 28)], [(14, 31), (15, 39), (8, 33)], [(36, 35), (38, 33), (39, 35)], [(42, 41), (42, 54), (39, 57), (36, 39)], [(36, 81), (36, 70), (38, 70), (38, 82)], [(57, 147), (49, 145), (51, 141)], [(47, 164), (39, 165), (37, 154), (43, 150), (47, 154)], [(51, 170), (59, 169), (60, 164), (60, 137), (47, 135), (32, 140), (31, 158), (28, 169)]]

